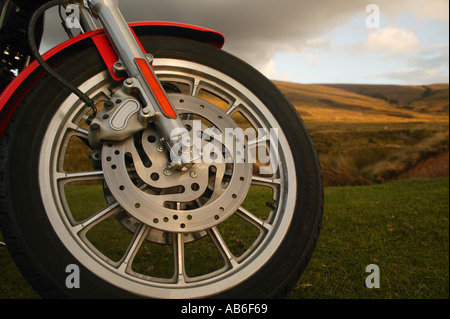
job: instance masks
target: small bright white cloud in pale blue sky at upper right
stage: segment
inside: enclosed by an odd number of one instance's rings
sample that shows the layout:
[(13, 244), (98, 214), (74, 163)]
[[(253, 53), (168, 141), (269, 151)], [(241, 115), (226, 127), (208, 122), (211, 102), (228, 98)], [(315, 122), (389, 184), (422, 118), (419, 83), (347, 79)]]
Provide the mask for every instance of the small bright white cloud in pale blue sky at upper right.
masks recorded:
[(419, 50), (420, 43), (410, 30), (387, 27), (371, 31), (365, 47), (374, 52), (408, 53)]

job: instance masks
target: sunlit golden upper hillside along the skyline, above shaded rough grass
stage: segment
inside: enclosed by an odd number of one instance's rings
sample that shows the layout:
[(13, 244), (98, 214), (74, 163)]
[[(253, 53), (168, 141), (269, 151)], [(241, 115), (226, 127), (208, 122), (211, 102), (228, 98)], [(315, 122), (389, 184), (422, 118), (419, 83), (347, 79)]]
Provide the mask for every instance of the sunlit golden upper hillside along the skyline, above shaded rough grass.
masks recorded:
[(448, 84), (394, 86), (274, 83), (305, 121), (448, 122)]

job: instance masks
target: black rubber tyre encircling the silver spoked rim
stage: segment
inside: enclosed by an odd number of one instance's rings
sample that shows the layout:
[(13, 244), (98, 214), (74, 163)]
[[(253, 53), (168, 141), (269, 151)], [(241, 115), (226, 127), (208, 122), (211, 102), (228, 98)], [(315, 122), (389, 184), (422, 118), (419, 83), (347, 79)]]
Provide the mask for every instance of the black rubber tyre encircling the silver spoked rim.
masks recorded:
[[(191, 40), (145, 36), (144, 47), (156, 58), (198, 62), (231, 76), (255, 93), (283, 125), (297, 170), (295, 214), (281, 247), (244, 283), (213, 298), (283, 298), (305, 270), (318, 240), (323, 185), (320, 165), (309, 134), (296, 110), (272, 82), (239, 59)], [(105, 69), (95, 48), (77, 52), (57, 67), (58, 73), (80, 85)], [(38, 186), (42, 139), (56, 109), (70, 94), (45, 77), (20, 104), (1, 141), (0, 223), (12, 258), (42, 297), (137, 297), (104, 282), (80, 266), (79, 289), (67, 289), (66, 266), (78, 264), (66, 250), (46, 216)]]

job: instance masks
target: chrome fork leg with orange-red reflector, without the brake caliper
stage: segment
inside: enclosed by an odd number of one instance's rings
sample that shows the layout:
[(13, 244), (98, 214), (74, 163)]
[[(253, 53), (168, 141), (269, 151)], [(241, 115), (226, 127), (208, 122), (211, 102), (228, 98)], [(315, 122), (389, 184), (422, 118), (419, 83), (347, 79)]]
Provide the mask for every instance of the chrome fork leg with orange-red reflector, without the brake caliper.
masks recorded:
[[(168, 148), (172, 150), (183, 138), (182, 135), (186, 133), (186, 130), (161, 83), (157, 80), (148, 62), (148, 56), (142, 51), (122, 16), (118, 0), (88, 0), (87, 2), (93, 14), (99, 18), (119, 56), (120, 63), (128, 74), (129, 78), (125, 80), (124, 87), (133, 87), (140, 91), (140, 97), (144, 103), (140, 111), (141, 120), (153, 121)], [(171, 136), (173, 132), (178, 134)], [(176, 158), (175, 154), (174, 156), (171, 158)]]

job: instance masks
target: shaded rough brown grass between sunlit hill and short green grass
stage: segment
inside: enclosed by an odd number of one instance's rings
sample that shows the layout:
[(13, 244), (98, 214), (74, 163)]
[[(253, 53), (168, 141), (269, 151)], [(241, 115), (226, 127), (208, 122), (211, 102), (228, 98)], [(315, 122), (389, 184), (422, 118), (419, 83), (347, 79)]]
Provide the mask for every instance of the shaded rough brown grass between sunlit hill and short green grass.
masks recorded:
[[(448, 126), (401, 125), (354, 131), (312, 131), (327, 186), (386, 182), (448, 152)], [(448, 163), (438, 163), (448, 170)], [(445, 176), (445, 175), (441, 175)]]

